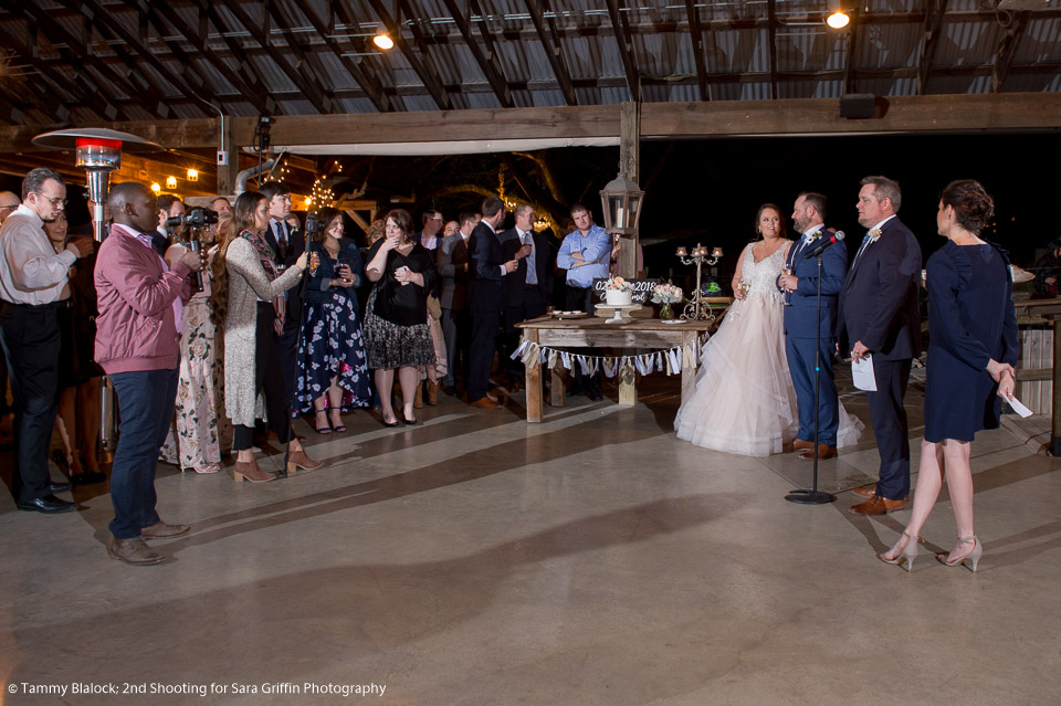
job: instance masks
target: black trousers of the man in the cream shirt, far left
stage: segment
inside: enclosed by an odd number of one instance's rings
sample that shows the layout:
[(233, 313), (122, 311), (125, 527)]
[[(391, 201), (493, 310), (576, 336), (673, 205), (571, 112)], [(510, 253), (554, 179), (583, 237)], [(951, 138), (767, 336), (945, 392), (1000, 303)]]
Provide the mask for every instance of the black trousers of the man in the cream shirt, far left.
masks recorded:
[(14, 473), (11, 491), (20, 503), (49, 495), (48, 449), (59, 409), (57, 306), (0, 309), (0, 345), (14, 397)]

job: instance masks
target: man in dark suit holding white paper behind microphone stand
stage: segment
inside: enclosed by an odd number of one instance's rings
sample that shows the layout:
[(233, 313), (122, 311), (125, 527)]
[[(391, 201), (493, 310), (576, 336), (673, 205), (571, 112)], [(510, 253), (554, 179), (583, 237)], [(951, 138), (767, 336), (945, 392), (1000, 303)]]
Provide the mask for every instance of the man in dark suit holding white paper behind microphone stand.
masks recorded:
[(876, 391), (866, 392), (881, 454), (880, 482), (857, 488), (868, 500), (857, 515), (903, 509), (910, 494), (910, 439), (903, 397), (911, 360), (921, 355), (921, 246), (899, 220), (902, 191), (885, 177), (866, 177), (859, 223), (869, 229), (840, 291), (838, 350), (873, 363)]

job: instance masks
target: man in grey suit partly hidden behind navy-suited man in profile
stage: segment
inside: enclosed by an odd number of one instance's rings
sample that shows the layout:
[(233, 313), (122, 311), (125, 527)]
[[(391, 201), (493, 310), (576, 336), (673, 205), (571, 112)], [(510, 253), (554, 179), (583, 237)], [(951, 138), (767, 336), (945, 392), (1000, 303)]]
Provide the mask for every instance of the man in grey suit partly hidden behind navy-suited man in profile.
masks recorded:
[(442, 337), (445, 339), (445, 377), (442, 389), (447, 394), (456, 393), (456, 371), (468, 365), (468, 236), (479, 219), (474, 213), (461, 213), (461, 228), (442, 239), (438, 249), (439, 275), (441, 275)]

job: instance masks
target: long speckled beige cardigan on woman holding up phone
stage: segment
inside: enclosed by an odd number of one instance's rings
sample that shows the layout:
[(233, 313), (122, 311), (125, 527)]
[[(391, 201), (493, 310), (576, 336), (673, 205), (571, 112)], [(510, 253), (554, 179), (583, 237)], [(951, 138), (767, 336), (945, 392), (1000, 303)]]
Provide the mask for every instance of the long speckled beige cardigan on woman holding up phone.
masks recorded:
[(264, 404), (254, 389), (254, 341), (258, 302), (292, 288), (302, 270), (292, 265), (272, 282), (254, 246), (238, 238), (229, 243), (224, 264), (229, 271), (229, 308), (224, 315), (224, 411), (233, 424), (253, 426), (263, 419)]

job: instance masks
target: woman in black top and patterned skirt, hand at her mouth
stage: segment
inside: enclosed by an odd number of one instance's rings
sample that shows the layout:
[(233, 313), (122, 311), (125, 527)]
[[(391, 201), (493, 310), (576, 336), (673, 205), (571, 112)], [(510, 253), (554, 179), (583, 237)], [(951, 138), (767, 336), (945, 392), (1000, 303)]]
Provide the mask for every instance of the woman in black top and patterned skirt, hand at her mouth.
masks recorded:
[(372, 368), (385, 426), (397, 426), (391, 404), (395, 370), (401, 384), (402, 421), (416, 424), (412, 401), (420, 384), (418, 366), (434, 365), (428, 328), (428, 293), (437, 271), (431, 252), (412, 241), (412, 217), (395, 209), (384, 219), (385, 236), (365, 259), (365, 276), (374, 282), (365, 310), (365, 350)]

